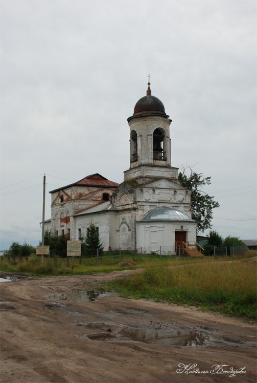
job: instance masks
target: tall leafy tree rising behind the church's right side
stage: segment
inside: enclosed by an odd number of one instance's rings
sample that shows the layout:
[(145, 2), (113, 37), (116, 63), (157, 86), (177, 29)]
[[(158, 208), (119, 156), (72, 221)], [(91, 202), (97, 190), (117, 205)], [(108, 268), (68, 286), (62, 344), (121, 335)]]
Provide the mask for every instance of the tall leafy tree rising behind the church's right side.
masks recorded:
[[(189, 171), (189, 175), (186, 172)], [(211, 229), (213, 209), (219, 207), (214, 197), (204, 193), (202, 187), (211, 184), (211, 177), (203, 177), (202, 173), (193, 172), (190, 166), (183, 167), (178, 176), (182, 186), (191, 191), (192, 219), (197, 221), (197, 231)]]

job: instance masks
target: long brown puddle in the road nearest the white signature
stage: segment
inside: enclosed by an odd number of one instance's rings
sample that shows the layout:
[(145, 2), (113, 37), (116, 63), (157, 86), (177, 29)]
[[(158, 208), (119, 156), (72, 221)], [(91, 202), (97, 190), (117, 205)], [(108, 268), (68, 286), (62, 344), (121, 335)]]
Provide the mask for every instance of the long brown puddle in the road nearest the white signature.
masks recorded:
[(197, 331), (154, 330), (133, 327), (123, 328), (120, 331), (120, 334), (137, 342), (161, 343), (188, 347), (204, 346), (210, 339), (206, 334)]

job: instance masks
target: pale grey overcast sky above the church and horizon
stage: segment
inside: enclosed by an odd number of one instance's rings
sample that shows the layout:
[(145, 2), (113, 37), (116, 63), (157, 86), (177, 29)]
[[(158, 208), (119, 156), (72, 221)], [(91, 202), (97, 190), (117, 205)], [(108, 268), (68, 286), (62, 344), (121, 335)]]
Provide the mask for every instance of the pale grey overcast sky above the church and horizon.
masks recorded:
[(148, 74), (173, 120), (172, 165), (212, 177), (212, 229), (256, 239), (256, 8), (1, 0), (0, 249), (38, 245), (44, 173), (46, 219), (50, 190), (92, 173), (123, 181)]

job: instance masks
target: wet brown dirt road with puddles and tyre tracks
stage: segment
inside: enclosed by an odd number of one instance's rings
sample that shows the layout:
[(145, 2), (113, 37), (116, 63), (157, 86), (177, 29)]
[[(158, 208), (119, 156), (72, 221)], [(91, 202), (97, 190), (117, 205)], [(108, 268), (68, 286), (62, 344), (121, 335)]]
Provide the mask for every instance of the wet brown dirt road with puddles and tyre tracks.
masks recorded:
[(256, 381), (256, 326), (97, 292), (131, 272), (1, 282), (1, 383)]

